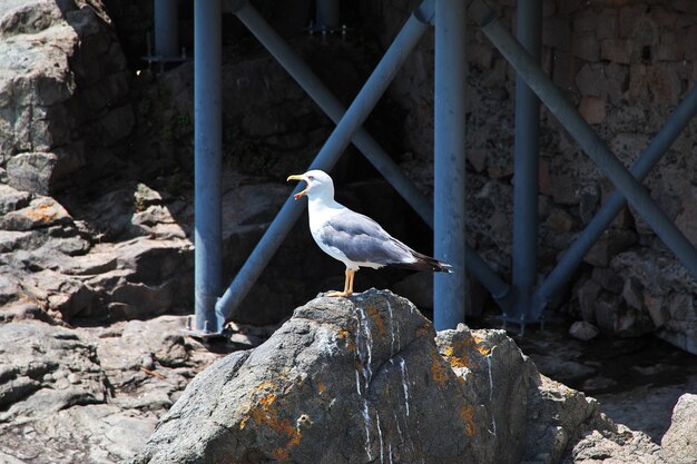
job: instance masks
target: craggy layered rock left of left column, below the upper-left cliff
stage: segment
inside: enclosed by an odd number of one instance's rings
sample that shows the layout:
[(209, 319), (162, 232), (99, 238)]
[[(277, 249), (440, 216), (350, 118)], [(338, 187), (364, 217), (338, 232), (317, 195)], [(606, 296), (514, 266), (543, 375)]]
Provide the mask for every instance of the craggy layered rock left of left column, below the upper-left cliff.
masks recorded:
[(104, 209), (92, 206), (102, 219), (114, 218), (110, 227), (127, 229), (111, 241), (101, 238), (107, 230), (98, 231), (98, 221), (75, 219), (51, 197), (0, 187), (0, 305), (13, 308), (4, 320), (32, 308), (76, 323), (185, 307), (193, 246), (171, 216), (176, 204), (135, 184), (121, 194), (122, 210), (117, 196)]

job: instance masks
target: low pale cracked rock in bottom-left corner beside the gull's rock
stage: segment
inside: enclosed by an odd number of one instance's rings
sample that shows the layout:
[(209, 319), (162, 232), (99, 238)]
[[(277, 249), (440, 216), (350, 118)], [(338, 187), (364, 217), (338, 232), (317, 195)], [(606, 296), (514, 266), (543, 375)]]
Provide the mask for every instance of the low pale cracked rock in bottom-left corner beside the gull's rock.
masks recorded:
[(180, 317), (69, 329), (0, 325), (0, 462), (132, 457), (184, 386), (218, 355)]

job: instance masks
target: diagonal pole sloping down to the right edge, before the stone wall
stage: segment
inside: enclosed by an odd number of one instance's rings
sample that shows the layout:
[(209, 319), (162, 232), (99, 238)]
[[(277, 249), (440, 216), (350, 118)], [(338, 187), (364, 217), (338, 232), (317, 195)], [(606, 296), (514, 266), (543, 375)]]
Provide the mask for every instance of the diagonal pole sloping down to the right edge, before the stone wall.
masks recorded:
[(483, 0), (474, 0), (470, 12), (489, 40), (501, 51), (526, 80), (549, 111), (561, 122), (598, 168), (612, 181), (629, 204), (646, 219), (654, 231), (689, 273), (697, 277), (697, 249), (660, 209), (644, 186), (625, 168), (592, 128), (578, 113), (528, 52), (495, 18)]

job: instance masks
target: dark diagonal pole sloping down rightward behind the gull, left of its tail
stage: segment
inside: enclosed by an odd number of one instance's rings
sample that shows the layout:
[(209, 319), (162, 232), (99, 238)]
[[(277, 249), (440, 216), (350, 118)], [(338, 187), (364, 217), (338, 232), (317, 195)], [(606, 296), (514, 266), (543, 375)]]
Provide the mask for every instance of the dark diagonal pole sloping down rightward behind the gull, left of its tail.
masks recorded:
[[(320, 108), (335, 122), (342, 119), (346, 109), (332, 95), (324, 83), (312, 72), (310, 67), (293, 51), (291, 47), (278, 36), (271, 26), (262, 18), (248, 1), (238, 1), (233, 6), (233, 12), (258, 39), (268, 52), (283, 66), (283, 68), (297, 81), (307, 95)], [(416, 214), (431, 228), (433, 227), (433, 208), (429, 199), (419, 191), (409, 177), (406, 177), (380, 147), (380, 145), (363, 128), (359, 128), (353, 136), (353, 144), (361, 150), (365, 158), (377, 171), (390, 181), (392, 187), (409, 203)]]

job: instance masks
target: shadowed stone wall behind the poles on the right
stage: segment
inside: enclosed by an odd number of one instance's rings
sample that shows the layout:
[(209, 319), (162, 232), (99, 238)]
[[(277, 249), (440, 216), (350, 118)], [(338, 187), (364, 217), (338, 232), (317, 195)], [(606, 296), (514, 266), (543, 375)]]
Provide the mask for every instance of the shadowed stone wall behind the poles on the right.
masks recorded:
[[(418, 1), (363, 2), (389, 43)], [(514, 0), (491, 1), (510, 30)], [(693, 1), (543, 1), (542, 68), (626, 166), (630, 166), (697, 80), (697, 3)], [(514, 71), (473, 23), (468, 30), (468, 239), (494, 269), (510, 274)], [(431, 195), (433, 38), (426, 36), (391, 95), (409, 112), (402, 165)], [(578, 145), (542, 110), (540, 274), (612, 191)], [(697, 144), (693, 121), (646, 181), (651, 196), (697, 244)], [(656, 263), (662, 263), (657, 265)], [(657, 285), (665, 279), (665, 285)], [(625, 208), (588, 254), (563, 310), (620, 335), (658, 334), (697, 352), (694, 279), (640, 215)], [(658, 280), (664, 282), (664, 280)]]

